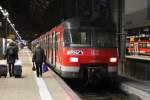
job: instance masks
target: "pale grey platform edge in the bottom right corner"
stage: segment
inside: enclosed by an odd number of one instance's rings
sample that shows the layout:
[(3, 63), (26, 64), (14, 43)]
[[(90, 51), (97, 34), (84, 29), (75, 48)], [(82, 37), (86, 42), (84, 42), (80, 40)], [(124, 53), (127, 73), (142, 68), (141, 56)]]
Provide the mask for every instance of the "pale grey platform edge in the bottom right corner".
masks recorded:
[(123, 82), (121, 83), (121, 89), (127, 93), (139, 96), (140, 99), (136, 100), (150, 99), (150, 81), (124, 78)]

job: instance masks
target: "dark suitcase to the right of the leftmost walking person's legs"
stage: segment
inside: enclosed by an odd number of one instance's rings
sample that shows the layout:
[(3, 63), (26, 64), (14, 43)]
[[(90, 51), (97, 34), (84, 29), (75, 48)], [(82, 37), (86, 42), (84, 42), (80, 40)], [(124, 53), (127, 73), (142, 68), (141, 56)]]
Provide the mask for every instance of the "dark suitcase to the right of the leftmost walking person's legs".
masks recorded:
[(22, 76), (22, 64), (20, 60), (15, 61), (13, 75), (15, 78), (21, 78)]

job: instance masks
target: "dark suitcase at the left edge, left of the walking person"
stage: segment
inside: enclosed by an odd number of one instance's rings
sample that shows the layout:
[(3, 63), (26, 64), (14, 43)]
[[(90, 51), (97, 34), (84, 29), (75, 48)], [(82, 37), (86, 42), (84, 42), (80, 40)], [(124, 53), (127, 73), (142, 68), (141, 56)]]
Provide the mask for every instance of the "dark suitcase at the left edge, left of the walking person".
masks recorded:
[(0, 60), (0, 77), (4, 76), (7, 77), (7, 61), (6, 60)]

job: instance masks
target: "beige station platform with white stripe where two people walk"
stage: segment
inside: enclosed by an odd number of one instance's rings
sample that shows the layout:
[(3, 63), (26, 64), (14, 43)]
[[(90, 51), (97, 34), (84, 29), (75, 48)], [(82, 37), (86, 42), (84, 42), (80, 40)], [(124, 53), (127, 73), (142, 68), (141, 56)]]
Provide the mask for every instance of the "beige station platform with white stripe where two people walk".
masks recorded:
[(19, 51), (22, 78), (0, 78), (0, 100), (81, 100), (52, 70), (36, 77), (32, 71), (32, 53), (28, 48)]

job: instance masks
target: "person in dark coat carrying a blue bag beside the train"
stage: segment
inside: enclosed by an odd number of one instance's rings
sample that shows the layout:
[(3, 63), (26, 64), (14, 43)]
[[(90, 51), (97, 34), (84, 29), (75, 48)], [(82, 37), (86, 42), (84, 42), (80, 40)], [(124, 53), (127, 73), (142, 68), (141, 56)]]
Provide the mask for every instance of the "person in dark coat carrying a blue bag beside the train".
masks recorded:
[(32, 58), (32, 62), (33, 63), (35, 62), (36, 65), (37, 77), (39, 77), (39, 75), (42, 77), (42, 64), (45, 61), (46, 61), (46, 56), (44, 54), (44, 50), (40, 47), (39, 44), (37, 44)]

